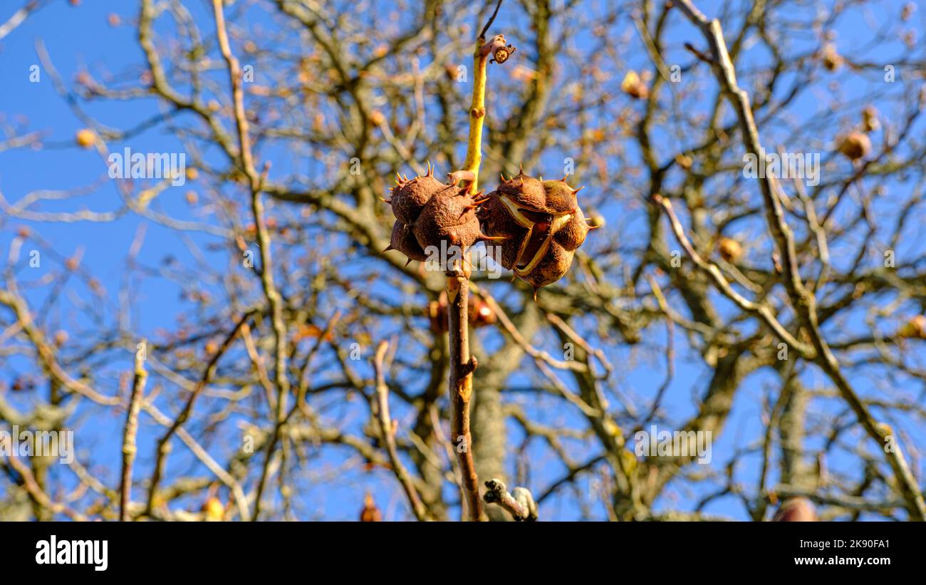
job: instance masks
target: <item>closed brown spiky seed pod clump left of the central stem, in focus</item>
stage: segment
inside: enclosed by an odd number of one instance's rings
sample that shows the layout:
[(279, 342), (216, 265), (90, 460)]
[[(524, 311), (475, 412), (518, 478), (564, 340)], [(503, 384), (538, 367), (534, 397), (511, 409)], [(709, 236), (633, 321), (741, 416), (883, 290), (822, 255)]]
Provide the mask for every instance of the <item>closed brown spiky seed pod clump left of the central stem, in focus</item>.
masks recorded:
[[(469, 173), (471, 176), (472, 173)], [(469, 179), (469, 182), (467, 180)], [(463, 180), (463, 187), (457, 183)], [(386, 250), (398, 250), (408, 260), (428, 259), (428, 248), (437, 250), (458, 246), (466, 250), (484, 236), (476, 218), (476, 209), (482, 203), (469, 193), (471, 178), (465, 171), (448, 175), (448, 182), (434, 178), (434, 169), (413, 179), (396, 176), (392, 197), (387, 201), (393, 207), (395, 223)]]

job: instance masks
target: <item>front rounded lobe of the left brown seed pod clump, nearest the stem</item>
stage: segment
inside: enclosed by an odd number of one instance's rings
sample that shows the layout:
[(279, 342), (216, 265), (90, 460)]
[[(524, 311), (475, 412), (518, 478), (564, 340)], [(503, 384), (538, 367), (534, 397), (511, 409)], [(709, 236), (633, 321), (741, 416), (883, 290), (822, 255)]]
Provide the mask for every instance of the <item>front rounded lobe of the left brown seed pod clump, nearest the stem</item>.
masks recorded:
[(430, 246), (468, 248), (480, 238), (476, 205), (465, 189), (444, 185), (421, 210), (415, 222), (415, 238), (422, 250)]

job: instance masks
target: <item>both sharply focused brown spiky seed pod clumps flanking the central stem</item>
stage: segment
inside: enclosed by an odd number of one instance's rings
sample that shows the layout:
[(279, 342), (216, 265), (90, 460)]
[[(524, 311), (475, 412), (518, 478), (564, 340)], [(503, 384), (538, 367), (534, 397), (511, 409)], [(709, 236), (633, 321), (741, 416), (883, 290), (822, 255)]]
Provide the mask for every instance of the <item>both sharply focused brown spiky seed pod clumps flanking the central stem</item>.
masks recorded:
[[(398, 177), (388, 201), (395, 223), (386, 250), (398, 250), (409, 261), (428, 259), (430, 246), (465, 250), (480, 240), (494, 240), (501, 248), (501, 264), (537, 290), (561, 279), (585, 241), (589, 226), (576, 193), (561, 180), (535, 179), (523, 169), (502, 182), (485, 198), (469, 193), (474, 177), (469, 171), (448, 174), (446, 183), (424, 175)], [(462, 187), (457, 183), (463, 182)]]

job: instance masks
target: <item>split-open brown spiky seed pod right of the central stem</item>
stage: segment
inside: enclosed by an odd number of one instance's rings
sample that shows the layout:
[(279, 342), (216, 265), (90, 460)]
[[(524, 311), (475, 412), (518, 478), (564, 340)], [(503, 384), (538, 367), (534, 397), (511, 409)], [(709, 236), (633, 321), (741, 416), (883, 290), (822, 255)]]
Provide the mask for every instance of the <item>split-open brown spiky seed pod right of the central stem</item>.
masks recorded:
[(505, 238), (502, 266), (514, 270), (534, 291), (556, 282), (572, 264), (588, 235), (576, 193), (565, 179), (537, 180), (523, 171), (490, 193), (480, 208), (482, 231)]

